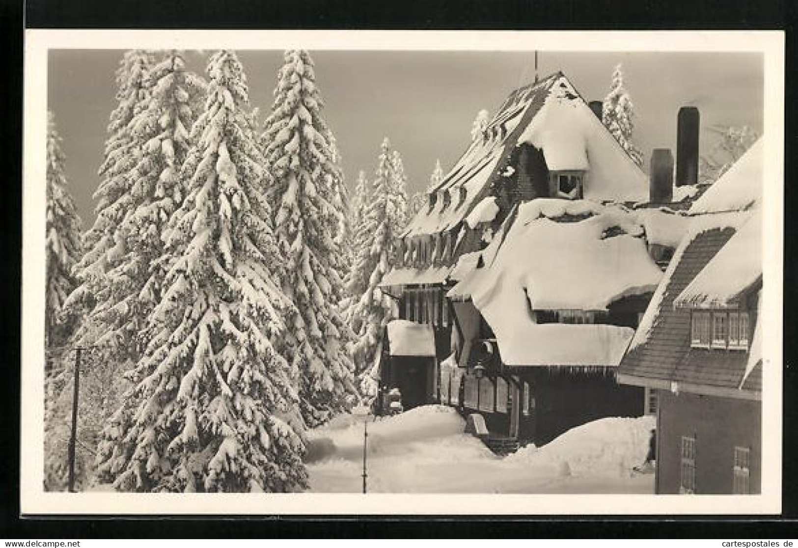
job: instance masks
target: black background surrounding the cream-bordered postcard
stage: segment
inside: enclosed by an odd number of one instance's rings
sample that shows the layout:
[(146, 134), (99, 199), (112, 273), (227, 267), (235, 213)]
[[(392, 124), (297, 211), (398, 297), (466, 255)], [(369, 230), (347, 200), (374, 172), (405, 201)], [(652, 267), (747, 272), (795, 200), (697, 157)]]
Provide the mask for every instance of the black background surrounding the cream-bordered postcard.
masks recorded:
[[(796, 202), (792, 75), (795, 0), (0, 0), (0, 539), (45, 538), (798, 538), (796, 507)], [(780, 516), (561, 516), (547, 518), (333, 516), (211, 519), (21, 518), (19, 365), (22, 264), (23, 28), (369, 29), (369, 30), (786, 30), (784, 227), (784, 479)], [(768, 428), (768, 424), (764, 424)], [(489, 509), (484, 509), (488, 511)], [(600, 511), (600, 508), (597, 508)], [(500, 542), (500, 541), (496, 541)]]

